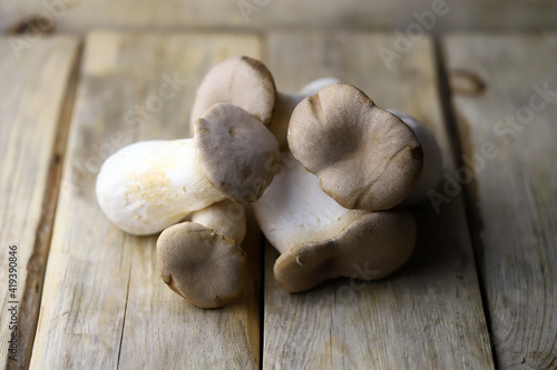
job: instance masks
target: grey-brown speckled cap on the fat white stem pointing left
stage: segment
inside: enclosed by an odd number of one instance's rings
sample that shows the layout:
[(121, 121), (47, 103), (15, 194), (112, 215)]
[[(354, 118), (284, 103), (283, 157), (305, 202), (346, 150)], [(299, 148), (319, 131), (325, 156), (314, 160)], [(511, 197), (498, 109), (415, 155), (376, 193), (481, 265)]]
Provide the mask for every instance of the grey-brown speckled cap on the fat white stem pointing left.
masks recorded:
[(256, 201), (273, 179), (278, 142), (258, 119), (240, 107), (217, 103), (194, 124), (204, 174), (226, 198)]

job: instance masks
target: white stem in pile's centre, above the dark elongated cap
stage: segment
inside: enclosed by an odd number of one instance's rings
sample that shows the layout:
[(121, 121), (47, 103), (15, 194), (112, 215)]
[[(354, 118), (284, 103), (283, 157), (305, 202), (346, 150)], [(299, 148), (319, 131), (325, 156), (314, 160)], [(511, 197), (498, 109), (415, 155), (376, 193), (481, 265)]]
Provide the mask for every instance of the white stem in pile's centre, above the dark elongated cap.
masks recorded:
[(253, 204), (263, 233), (281, 253), (294, 246), (333, 239), (368, 213), (340, 206), (292, 154), (283, 153), (282, 166), (283, 170)]

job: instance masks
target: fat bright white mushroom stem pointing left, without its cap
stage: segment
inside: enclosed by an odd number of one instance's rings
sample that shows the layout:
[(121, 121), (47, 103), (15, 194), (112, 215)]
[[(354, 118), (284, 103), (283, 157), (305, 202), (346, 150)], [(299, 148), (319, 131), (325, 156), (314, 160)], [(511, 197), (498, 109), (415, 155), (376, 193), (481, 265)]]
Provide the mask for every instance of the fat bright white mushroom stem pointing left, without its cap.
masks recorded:
[(205, 177), (193, 139), (143, 141), (102, 164), (97, 199), (117, 227), (150, 234), (225, 197)]

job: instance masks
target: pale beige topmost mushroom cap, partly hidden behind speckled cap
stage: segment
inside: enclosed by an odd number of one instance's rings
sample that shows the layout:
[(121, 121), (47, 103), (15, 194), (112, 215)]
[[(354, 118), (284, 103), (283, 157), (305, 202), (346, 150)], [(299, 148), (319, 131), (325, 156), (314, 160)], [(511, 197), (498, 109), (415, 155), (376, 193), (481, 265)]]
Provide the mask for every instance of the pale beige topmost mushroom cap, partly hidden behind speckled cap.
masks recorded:
[(271, 122), (276, 88), (273, 76), (261, 61), (235, 56), (214, 66), (197, 88), (190, 122), (218, 102), (238, 106), (263, 124)]

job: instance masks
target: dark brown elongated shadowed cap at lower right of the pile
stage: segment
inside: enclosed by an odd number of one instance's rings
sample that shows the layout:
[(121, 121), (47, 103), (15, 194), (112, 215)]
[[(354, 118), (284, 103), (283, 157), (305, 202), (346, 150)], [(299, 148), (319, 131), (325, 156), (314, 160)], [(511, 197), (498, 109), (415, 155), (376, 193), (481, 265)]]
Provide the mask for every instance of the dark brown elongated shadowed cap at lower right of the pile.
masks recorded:
[(381, 279), (410, 258), (414, 243), (416, 223), (407, 211), (367, 213), (334, 239), (300, 244), (281, 254), (274, 276), (290, 292), (338, 277)]

